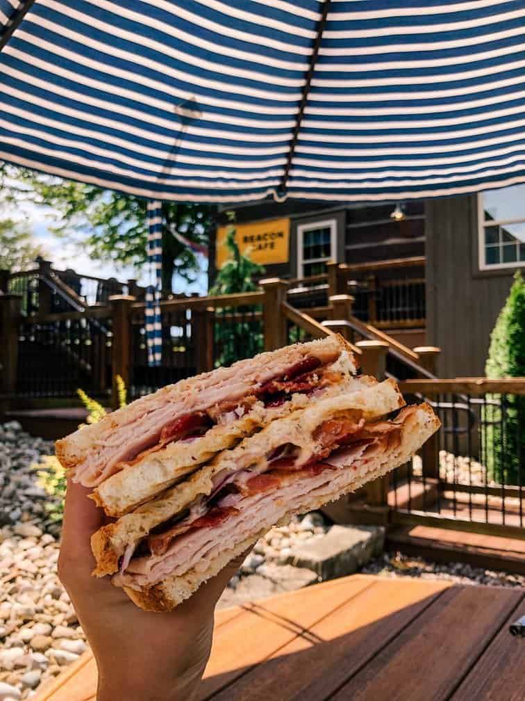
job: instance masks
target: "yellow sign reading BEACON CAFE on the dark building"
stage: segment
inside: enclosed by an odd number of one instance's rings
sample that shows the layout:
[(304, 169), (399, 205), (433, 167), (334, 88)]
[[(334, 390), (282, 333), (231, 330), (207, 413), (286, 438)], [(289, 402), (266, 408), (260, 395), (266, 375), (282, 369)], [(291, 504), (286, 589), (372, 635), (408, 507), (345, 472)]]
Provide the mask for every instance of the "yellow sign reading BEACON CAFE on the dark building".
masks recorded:
[[(222, 268), (231, 258), (226, 245), (228, 226), (217, 229), (216, 265)], [(290, 246), (290, 219), (272, 219), (269, 222), (254, 224), (237, 224), (235, 240), (241, 253), (246, 254), (254, 263), (269, 265), (286, 263)]]

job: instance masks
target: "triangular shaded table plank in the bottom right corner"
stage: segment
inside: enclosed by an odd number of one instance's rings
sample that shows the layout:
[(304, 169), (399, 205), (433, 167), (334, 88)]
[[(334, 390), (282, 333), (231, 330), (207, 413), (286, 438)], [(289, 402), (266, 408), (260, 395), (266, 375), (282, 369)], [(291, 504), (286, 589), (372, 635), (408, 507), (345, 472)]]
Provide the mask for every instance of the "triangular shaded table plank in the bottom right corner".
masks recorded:
[(525, 699), (525, 640), (509, 633), (509, 626), (525, 615), (525, 594), (523, 597), (451, 701)]

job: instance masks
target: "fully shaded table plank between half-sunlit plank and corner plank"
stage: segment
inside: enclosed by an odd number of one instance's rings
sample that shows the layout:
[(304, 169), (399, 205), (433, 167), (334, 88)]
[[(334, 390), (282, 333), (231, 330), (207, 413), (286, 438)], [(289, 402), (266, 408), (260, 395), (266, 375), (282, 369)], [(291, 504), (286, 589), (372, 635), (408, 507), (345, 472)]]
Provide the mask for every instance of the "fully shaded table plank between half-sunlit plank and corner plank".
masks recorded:
[(333, 701), (445, 701), (520, 599), (500, 587), (450, 587)]

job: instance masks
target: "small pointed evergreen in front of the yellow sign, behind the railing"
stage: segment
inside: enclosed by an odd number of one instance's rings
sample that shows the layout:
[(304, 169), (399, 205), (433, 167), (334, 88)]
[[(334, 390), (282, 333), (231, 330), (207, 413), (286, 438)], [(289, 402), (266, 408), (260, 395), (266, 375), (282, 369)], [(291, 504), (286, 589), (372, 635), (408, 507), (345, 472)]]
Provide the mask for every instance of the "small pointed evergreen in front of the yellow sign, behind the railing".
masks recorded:
[[(235, 240), (235, 212), (227, 212), (230, 225), (226, 232), (226, 245), (230, 258), (218, 271), (210, 294), (235, 294), (255, 292), (253, 280), (265, 272), (265, 268), (254, 263), (249, 255), (241, 253)], [(249, 252), (248, 252), (249, 253)], [(216, 366), (231, 365), (241, 358), (250, 358), (264, 347), (262, 321), (259, 306), (223, 307), (216, 310), (215, 344)]]

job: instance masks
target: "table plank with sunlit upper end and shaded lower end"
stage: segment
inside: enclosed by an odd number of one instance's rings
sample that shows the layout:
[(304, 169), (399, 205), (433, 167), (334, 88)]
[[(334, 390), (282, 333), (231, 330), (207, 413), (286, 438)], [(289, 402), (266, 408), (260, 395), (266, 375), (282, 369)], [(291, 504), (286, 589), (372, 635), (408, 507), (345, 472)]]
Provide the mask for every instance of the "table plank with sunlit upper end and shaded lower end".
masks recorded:
[(437, 581), (374, 579), (370, 587), (313, 625), (309, 635), (295, 638), (213, 700), (327, 699), (448, 586)]

